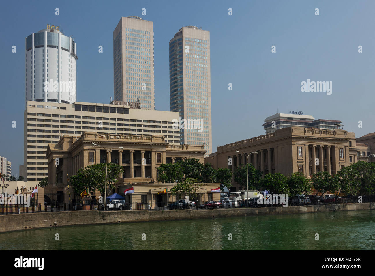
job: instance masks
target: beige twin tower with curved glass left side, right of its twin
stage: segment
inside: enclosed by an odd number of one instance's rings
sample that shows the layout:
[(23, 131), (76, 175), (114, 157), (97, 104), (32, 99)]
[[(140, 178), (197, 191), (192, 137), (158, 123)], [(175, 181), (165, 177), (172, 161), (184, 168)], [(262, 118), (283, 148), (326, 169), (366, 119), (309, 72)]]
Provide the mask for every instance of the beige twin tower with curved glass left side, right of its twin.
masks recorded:
[(180, 143), (204, 145), (204, 157), (212, 151), (210, 64), (210, 32), (186, 26), (169, 41), (170, 107), (180, 114)]

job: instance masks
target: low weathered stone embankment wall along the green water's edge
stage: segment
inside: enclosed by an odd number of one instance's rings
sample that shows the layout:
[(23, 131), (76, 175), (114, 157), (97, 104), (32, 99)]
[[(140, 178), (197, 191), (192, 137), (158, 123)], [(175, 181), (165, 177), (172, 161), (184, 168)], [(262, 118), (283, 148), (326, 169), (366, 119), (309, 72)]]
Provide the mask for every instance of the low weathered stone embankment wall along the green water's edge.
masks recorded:
[(67, 211), (0, 215), (0, 232), (67, 225), (87, 225), (118, 222), (208, 219), (220, 217), (257, 216), (268, 214), (298, 214), (327, 211), (373, 210), (375, 202), (311, 206), (238, 208), (171, 211)]

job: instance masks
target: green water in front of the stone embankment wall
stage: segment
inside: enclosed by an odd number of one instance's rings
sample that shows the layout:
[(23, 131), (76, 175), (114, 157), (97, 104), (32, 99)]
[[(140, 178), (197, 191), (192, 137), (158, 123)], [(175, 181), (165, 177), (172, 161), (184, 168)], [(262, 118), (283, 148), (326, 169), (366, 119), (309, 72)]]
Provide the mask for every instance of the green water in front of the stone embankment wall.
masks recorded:
[(375, 210), (31, 229), (0, 234), (4, 249), (374, 250)]

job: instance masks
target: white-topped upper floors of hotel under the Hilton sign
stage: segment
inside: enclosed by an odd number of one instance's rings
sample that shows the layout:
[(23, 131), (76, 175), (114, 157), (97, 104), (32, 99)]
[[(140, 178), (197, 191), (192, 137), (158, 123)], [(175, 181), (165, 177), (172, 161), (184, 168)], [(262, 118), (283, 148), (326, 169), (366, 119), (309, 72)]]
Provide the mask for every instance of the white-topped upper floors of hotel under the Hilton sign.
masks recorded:
[(264, 120), (263, 128), (266, 133), (273, 133), (278, 129), (286, 127), (314, 127), (318, 129), (337, 129), (341, 121), (336, 120), (315, 120), (313, 116), (302, 115), (302, 112), (276, 113)]

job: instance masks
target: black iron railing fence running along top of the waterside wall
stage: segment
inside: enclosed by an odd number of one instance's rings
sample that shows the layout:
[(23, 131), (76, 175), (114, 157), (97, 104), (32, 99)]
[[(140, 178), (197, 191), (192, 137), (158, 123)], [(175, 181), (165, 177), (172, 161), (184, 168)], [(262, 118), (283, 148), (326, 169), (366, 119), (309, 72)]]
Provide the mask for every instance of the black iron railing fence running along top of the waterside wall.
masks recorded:
[[(326, 205), (326, 204), (347, 204), (357, 202), (375, 202), (375, 196), (345, 196), (338, 198), (289, 198), (288, 206), (296, 205)], [(178, 200), (174, 202), (130, 202), (113, 201), (107, 204), (92, 203), (83, 204), (78, 203), (58, 203), (58, 202), (31, 202), (29, 206), (23, 204), (0, 204), (1, 214), (25, 214), (25, 213), (40, 213), (40, 212), (61, 212), (61, 211), (80, 211), (80, 210), (99, 210), (99, 211), (126, 211), (126, 210), (148, 210), (148, 211), (166, 211), (166, 210), (203, 210), (216, 208), (261, 208), (261, 207), (277, 207), (286, 205), (286, 199), (272, 198), (272, 199), (249, 199), (246, 200), (231, 200), (220, 199), (219, 201), (202, 201), (202, 202), (185, 202)]]

